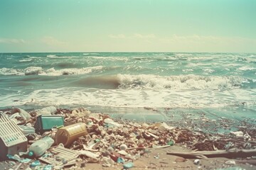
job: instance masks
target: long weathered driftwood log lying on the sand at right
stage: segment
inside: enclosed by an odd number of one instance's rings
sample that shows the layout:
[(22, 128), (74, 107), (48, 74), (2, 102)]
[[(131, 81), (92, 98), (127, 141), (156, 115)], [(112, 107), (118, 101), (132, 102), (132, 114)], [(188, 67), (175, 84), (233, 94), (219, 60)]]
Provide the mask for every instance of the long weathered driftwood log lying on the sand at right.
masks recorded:
[(197, 152), (167, 152), (167, 154), (176, 155), (178, 157), (193, 159), (193, 158), (210, 158), (210, 157), (252, 157), (256, 156), (256, 149), (229, 149), (217, 151), (197, 151)]

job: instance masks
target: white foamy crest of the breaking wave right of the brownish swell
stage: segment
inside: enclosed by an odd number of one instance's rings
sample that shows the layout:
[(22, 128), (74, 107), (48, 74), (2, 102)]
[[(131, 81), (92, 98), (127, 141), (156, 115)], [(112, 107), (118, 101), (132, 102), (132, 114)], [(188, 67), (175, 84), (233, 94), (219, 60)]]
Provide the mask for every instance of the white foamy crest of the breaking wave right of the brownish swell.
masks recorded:
[(221, 90), (238, 88), (244, 79), (241, 77), (218, 77), (180, 75), (161, 77), (156, 75), (118, 74), (121, 89), (201, 89)]

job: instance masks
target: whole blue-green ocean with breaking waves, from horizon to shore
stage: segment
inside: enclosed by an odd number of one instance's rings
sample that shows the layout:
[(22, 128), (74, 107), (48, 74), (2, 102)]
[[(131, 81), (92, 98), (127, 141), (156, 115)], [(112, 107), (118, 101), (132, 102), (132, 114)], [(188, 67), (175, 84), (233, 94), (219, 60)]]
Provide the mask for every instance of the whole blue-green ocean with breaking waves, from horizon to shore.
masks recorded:
[(0, 54), (0, 108), (86, 107), (164, 121), (182, 113), (256, 118), (256, 54)]

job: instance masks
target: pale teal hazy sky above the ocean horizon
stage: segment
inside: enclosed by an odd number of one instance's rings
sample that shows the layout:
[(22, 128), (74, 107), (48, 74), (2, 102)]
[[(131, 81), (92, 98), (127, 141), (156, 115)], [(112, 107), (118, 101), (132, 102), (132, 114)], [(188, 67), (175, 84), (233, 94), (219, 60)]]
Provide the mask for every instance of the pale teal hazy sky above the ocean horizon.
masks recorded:
[(255, 0), (1, 0), (0, 52), (256, 52)]

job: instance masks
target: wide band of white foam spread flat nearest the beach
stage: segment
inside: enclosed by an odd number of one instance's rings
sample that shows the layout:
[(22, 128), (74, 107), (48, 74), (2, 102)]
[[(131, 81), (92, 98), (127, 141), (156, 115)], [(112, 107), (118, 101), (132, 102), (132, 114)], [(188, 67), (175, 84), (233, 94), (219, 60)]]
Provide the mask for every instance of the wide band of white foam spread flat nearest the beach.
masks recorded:
[[(1, 106), (13, 103), (14, 98), (21, 98), (16, 105), (57, 106), (89, 105), (127, 108), (218, 108), (246, 103), (255, 106), (255, 90), (231, 89), (228, 91), (181, 91), (181, 90), (125, 90), (125, 89), (84, 89), (59, 88), (41, 89), (27, 95), (1, 98)], [(33, 98), (33, 101), (31, 101)], [(4, 99), (4, 100), (2, 100)]]

